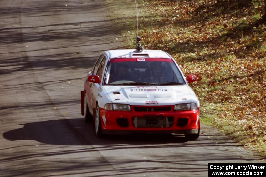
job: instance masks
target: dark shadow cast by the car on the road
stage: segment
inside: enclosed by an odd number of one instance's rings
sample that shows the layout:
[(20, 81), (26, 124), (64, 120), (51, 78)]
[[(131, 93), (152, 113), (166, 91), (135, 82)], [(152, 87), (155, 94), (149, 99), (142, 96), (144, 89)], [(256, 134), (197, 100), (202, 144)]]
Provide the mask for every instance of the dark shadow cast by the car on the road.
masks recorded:
[[(72, 127), (69, 122), (77, 122), (78, 127)], [(74, 133), (78, 139), (89, 138), (90, 143), (87, 145), (104, 145), (104, 144), (134, 144), (134, 145), (150, 145), (150, 144), (167, 144), (167, 143), (184, 143), (187, 140), (182, 135), (105, 135), (103, 138), (96, 138), (92, 123), (85, 124), (83, 119), (59, 119), (59, 120), (48, 120), (41, 122), (32, 122), (23, 125), (22, 128), (10, 130), (3, 133), (5, 139), (11, 141), (17, 140), (35, 140), (44, 144), (52, 145), (80, 145), (80, 142), (85, 143), (86, 140), (80, 140), (77, 142), (70, 142), (66, 131)], [(62, 128), (58, 128), (64, 127)], [(49, 134), (52, 133), (54, 137), (43, 136), (45, 131)], [(87, 136), (87, 137), (84, 137)]]

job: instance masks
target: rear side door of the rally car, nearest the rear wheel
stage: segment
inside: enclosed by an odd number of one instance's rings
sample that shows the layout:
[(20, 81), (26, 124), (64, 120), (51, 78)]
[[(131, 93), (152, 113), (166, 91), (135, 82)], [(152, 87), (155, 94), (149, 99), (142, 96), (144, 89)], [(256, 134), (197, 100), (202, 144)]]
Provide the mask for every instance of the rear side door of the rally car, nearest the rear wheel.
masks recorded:
[(100, 57), (98, 58), (98, 60), (96, 61), (95, 63), (95, 66), (93, 67), (92, 71), (90, 73), (87, 74), (86, 76), (86, 80), (85, 80), (85, 90), (86, 90), (86, 93), (87, 93), (87, 103), (88, 103), (88, 107), (89, 107), (89, 110), (90, 110), (90, 113), (92, 114), (92, 108), (93, 108), (93, 105), (92, 105), (92, 98), (91, 98), (91, 95), (92, 95), (92, 92), (91, 92), (91, 86), (92, 86), (92, 83), (91, 82), (88, 82), (87, 79), (88, 79), (88, 76), (90, 75), (96, 75), (97, 71), (98, 71), (98, 68), (99, 68), (99, 65), (100, 65), (100, 62), (102, 61), (104, 55), (100, 55)]

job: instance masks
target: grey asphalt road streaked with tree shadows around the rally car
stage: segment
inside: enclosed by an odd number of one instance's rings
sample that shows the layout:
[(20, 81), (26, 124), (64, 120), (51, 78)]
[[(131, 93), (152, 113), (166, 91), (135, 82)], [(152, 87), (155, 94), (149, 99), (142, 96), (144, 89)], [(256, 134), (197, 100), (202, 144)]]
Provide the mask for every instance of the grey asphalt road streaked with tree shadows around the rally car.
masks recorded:
[(265, 163), (204, 125), (196, 141), (95, 137), (80, 91), (101, 51), (122, 41), (109, 6), (0, 1), (0, 176), (207, 176), (210, 162)]

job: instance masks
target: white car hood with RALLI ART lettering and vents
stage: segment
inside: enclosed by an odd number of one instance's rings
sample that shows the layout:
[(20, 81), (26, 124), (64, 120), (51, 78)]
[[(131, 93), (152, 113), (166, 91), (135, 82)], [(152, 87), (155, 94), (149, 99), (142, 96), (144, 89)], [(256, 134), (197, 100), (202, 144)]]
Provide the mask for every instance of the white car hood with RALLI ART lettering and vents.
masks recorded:
[(129, 105), (175, 105), (199, 101), (187, 85), (178, 86), (103, 86), (112, 103)]

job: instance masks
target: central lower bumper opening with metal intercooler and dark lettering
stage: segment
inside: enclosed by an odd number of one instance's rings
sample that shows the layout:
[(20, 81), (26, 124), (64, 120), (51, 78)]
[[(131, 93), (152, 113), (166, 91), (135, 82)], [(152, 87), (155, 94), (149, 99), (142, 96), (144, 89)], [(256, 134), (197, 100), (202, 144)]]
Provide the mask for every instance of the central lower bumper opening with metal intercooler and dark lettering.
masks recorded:
[(135, 128), (169, 128), (173, 125), (173, 117), (133, 117)]

